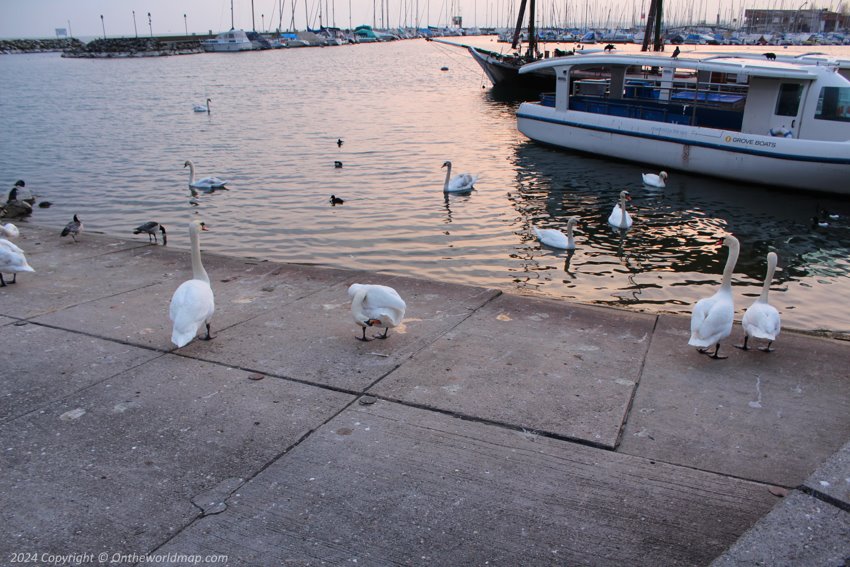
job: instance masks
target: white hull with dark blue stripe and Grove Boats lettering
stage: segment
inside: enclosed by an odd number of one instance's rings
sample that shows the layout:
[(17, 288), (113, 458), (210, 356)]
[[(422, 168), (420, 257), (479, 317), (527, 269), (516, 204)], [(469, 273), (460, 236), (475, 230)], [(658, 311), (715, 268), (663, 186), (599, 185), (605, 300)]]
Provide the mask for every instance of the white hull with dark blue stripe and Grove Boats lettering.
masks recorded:
[(757, 136), (524, 103), (517, 127), (544, 144), (777, 187), (850, 194), (850, 141)]

